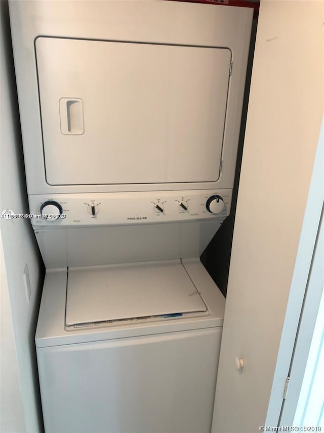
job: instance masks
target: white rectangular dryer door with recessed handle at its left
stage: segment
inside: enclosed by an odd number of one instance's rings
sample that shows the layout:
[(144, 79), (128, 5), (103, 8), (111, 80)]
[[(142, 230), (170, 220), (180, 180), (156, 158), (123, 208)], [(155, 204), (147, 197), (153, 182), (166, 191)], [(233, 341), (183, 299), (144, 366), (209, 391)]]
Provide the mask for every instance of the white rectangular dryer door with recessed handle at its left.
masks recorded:
[(213, 182), (231, 51), (37, 38), (47, 182)]

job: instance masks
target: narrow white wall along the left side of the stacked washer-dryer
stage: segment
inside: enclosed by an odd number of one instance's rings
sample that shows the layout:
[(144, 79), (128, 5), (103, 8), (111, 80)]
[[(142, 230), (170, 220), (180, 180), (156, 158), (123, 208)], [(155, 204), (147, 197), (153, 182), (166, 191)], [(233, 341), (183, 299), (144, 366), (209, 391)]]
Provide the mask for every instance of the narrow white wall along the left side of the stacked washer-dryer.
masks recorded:
[[(10, 45), (8, 4), (1, 13), (0, 213), (28, 213), (19, 114)], [(1, 219), (1, 424), (2, 433), (42, 431), (34, 331), (43, 278), (42, 260), (26, 219)], [(29, 268), (27, 304), (23, 272)]]

